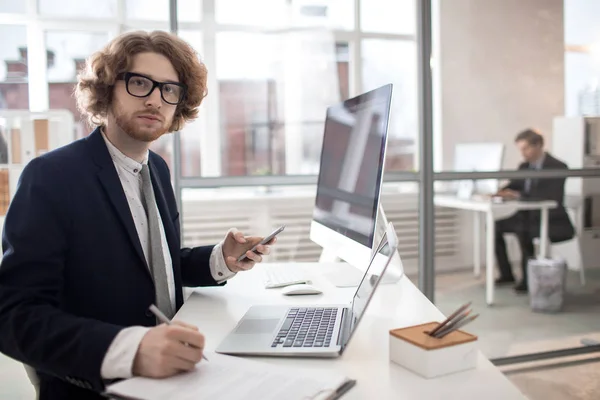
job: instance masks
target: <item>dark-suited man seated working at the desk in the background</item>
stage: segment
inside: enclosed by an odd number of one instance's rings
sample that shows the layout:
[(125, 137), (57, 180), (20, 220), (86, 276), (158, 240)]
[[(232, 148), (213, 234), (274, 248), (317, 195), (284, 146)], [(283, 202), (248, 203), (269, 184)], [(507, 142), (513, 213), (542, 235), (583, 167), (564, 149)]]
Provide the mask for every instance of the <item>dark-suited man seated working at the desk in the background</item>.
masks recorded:
[[(544, 137), (538, 132), (527, 129), (515, 139), (524, 162), (519, 169), (567, 169), (562, 161), (544, 151)], [(565, 179), (515, 179), (498, 192), (505, 199), (554, 200), (558, 206), (549, 212), (550, 241), (569, 240), (575, 234), (569, 215), (564, 206)], [(496, 259), (500, 277), (496, 284), (515, 282), (508, 255), (504, 233), (517, 235), (521, 247), (521, 270), (523, 280), (515, 287), (517, 292), (527, 292), (527, 262), (534, 256), (533, 239), (540, 234), (540, 211), (519, 211), (510, 218), (496, 222)]]

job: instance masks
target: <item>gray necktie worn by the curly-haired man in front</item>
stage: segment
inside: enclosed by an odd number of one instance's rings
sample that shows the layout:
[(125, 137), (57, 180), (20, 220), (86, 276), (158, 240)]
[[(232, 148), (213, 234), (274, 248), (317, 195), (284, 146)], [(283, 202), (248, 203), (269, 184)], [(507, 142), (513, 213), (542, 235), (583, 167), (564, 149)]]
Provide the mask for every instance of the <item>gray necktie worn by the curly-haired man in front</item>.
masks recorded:
[(165, 256), (162, 250), (162, 240), (160, 237), (160, 216), (156, 207), (152, 181), (150, 180), (150, 169), (148, 165), (142, 167), (142, 193), (144, 195), (144, 205), (146, 215), (148, 216), (148, 233), (150, 239), (150, 272), (154, 279), (154, 288), (156, 290), (156, 306), (168, 317), (173, 318), (175, 312), (169, 296), (169, 285), (167, 283), (167, 266)]

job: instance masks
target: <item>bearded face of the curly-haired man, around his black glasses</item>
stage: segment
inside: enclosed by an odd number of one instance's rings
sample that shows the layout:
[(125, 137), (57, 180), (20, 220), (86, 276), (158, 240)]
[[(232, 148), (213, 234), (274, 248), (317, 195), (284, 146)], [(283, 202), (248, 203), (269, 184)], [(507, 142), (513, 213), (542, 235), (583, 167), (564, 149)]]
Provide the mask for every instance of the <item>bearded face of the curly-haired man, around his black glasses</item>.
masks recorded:
[[(137, 54), (127, 72), (141, 74), (158, 82), (179, 82), (173, 64), (158, 53)], [(132, 84), (134, 83), (130, 83)], [(146, 97), (135, 97), (127, 92), (125, 81), (118, 80), (110, 113), (127, 135), (142, 142), (153, 142), (168, 132), (176, 108), (176, 105), (166, 103), (162, 99), (158, 87)]]

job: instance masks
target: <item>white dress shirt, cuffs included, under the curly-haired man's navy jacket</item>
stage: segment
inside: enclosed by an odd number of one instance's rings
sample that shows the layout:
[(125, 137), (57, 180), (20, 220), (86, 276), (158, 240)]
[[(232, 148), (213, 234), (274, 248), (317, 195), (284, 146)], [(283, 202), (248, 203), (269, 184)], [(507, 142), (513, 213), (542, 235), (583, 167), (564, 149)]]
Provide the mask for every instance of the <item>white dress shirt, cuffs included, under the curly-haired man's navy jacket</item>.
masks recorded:
[[(125, 192), (125, 197), (127, 197), (127, 203), (129, 204), (131, 216), (133, 217), (133, 222), (135, 223), (135, 229), (140, 239), (142, 250), (144, 251), (144, 256), (146, 257), (146, 261), (148, 262), (148, 257), (150, 254), (148, 217), (146, 216), (146, 210), (142, 202), (142, 176), (140, 174), (140, 171), (142, 170), (142, 165), (147, 164), (148, 162), (148, 155), (146, 154), (146, 157), (144, 158), (142, 163), (139, 163), (127, 157), (119, 149), (117, 149), (108, 140), (104, 133), (102, 134), (102, 137), (106, 142), (108, 152), (112, 157), (113, 163), (117, 170), (117, 174), (119, 175), (121, 185), (123, 186), (123, 191)], [(152, 206), (158, 207), (156, 204)], [(169, 297), (171, 299), (173, 309), (175, 310), (177, 308), (175, 304), (176, 289), (175, 279), (173, 275), (171, 253), (169, 252), (169, 245), (167, 243), (165, 229), (162, 224), (162, 221), (159, 225), (162, 250), (164, 254), (165, 264), (167, 266), (167, 284), (169, 286)], [(209, 261), (211, 275), (218, 283), (221, 283), (235, 275), (235, 273), (231, 272), (225, 264), (223, 251), (221, 250), (222, 246), (223, 242), (217, 244), (214, 247), (210, 255)], [(202, 268), (202, 266), (198, 265), (198, 268)], [(104, 360), (102, 361), (100, 374), (103, 379), (132, 377), (133, 361), (135, 359), (137, 349), (140, 345), (140, 342), (142, 341), (142, 338), (148, 332), (149, 329), (150, 328), (142, 326), (133, 326), (125, 328), (121, 332), (119, 332), (119, 334), (115, 337), (115, 339), (109, 346), (108, 351), (104, 356)]]

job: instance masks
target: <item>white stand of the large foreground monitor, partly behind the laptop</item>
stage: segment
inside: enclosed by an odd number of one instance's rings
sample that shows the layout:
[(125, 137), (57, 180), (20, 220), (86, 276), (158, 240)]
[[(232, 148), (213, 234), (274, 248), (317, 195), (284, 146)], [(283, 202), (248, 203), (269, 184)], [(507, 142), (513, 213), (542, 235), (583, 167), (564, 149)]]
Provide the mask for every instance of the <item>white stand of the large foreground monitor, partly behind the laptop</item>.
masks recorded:
[[(381, 205), (379, 205), (376, 221), (373, 243), (379, 243), (387, 229), (388, 220)], [(375, 250), (377, 249), (374, 249), (374, 251)], [(388, 267), (381, 279), (382, 285), (394, 284), (402, 278), (402, 275), (404, 275), (404, 268), (402, 267), (402, 262), (397, 250), (394, 257), (397, 262), (392, 262)], [(357, 287), (365, 275), (365, 270), (367, 268), (367, 265), (365, 265), (363, 269), (356, 268), (341, 260), (337, 254), (330, 249), (325, 248), (321, 252), (319, 264), (327, 266), (327, 272), (325, 272), (323, 276), (331, 284), (337, 287)]]

